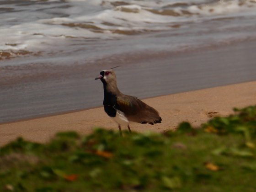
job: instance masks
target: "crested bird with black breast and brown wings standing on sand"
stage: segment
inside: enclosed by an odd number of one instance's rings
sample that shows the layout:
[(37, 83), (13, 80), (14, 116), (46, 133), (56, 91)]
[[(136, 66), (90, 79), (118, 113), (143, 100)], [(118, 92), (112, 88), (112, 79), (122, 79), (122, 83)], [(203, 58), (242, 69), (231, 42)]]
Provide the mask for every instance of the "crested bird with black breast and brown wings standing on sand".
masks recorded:
[(117, 123), (120, 136), (123, 136), (121, 125), (127, 126), (129, 132), (131, 132), (130, 122), (149, 123), (151, 125), (161, 123), (162, 118), (153, 107), (135, 96), (128, 96), (119, 91), (113, 68), (102, 70), (100, 76), (95, 78), (95, 80), (98, 79), (103, 83), (104, 111)]

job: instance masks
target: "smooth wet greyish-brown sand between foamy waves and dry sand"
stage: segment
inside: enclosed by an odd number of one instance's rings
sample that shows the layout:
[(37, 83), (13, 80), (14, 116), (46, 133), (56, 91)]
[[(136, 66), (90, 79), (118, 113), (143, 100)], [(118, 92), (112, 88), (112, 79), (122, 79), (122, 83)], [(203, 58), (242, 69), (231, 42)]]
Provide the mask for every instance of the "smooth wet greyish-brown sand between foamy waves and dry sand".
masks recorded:
[[(139, 98), (253, 81), (255, 50), (256, 41), (251, 40), (182, 53), (123, 53), (91, 63), (10, 60), (10, 65), (0, 67), (0, 123), (101, 106), (102, 84), (95, 77), (117, 65), (120, 91)], [(17, 60), (20, 65), (15, 65)]]

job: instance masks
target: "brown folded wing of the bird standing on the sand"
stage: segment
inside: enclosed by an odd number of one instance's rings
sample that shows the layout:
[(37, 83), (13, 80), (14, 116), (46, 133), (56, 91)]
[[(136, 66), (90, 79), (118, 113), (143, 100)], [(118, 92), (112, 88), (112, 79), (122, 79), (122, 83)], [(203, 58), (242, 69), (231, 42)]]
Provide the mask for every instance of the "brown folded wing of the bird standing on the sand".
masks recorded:
[(137, 97), (121, 95), (117, 97), (117, 104), (129, 121), (137, 123), (161, 123), (161, 117), (153, 107), (150, 107)]

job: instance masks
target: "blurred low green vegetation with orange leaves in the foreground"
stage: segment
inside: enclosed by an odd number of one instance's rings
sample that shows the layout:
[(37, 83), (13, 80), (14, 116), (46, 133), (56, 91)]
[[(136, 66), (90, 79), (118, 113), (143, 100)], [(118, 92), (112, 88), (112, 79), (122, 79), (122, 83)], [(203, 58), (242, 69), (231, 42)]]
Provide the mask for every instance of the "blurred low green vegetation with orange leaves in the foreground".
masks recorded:
[(255, 192), (256, 106), (159, 133), (63, 132), (0, 149), (0, 191)]

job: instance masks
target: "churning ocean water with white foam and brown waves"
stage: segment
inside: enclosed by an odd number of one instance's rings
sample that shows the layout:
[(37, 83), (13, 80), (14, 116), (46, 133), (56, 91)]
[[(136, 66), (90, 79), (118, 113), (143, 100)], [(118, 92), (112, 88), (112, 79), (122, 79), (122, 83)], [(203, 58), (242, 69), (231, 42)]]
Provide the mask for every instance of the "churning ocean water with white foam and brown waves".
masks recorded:
[(72, 62), (69, 55), (90, 62), (256, 36), (256, 0), (1, 0), (0, 18), (0, 66), (14, 58)]

